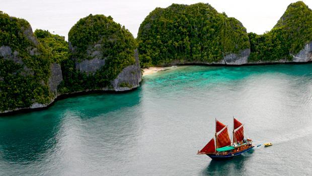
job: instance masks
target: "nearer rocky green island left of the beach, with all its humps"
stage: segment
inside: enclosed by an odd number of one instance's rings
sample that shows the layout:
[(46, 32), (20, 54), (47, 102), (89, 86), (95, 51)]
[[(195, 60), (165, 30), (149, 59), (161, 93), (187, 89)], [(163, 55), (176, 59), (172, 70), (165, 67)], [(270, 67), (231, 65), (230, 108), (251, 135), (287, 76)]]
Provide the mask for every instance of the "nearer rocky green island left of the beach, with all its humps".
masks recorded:
[(136, 41), (111, 17), (81, 19), (68, 43), (2, 12), (0, 24), (1, 113), (46, 107), (63, 94), (139, 86)]

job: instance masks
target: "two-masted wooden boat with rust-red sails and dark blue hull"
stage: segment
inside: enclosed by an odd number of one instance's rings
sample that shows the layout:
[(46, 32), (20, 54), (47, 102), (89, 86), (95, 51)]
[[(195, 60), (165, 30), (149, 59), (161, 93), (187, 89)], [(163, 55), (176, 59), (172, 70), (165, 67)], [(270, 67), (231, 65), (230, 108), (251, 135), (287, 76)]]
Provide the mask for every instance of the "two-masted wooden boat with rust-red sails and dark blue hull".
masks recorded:
[[(214, 142), (215, 138), (215, 142)], [(215, 137), (212, 138), (197, 154), (206, 154), (211, 159), (230, 159), (245, 153), (255, 146), (251, 139), (244, 139), (244, 125), (233, 118), (233, 140), (228, 136), (227, 126), (215, 120)]]

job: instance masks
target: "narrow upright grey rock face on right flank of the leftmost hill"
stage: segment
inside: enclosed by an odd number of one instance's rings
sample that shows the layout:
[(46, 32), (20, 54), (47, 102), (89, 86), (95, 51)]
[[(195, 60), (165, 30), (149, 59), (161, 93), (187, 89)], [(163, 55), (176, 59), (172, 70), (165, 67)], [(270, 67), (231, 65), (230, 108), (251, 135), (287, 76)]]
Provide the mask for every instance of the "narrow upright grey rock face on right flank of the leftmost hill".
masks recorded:
[(62, 70), (59, 64), (51, 64), (51, 75), (49, 78), (49, 89), (54, 94), (57, 93), (57, 86), (63, 81)]

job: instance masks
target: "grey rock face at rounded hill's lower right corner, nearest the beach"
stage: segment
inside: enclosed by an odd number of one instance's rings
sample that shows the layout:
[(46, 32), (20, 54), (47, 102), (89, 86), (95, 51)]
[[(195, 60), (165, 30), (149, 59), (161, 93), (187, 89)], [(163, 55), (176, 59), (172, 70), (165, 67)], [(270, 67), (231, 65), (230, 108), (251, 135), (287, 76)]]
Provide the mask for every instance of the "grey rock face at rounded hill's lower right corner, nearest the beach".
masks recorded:
[(136, 49), (134, 52), (134, 57), (135, 64), (124, 68), (117, 76), (117, 78), (111, 82), (115, 91), (131, 90), (140, 86), (142, 74)]

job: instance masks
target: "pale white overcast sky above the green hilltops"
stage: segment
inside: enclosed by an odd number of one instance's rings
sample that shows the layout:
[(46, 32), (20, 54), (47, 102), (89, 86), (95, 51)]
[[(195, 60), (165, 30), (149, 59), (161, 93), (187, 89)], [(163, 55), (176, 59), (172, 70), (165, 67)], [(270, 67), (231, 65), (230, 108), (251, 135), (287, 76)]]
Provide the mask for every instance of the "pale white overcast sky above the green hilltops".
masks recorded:
[[(46, 29), (67, 38), (70, 28), (89, 14), (104, 14), (124, 25), (137, 35), (144, 18), (156, 7), (166, 8), (172, 3), (209, 3), (218, 12), (235, 17), (248, 32), (262, 34), (269, 31), (283, 15), (291, 0), (1, 0), (0, 11), (26, 19), (35, 29)], [(310, 8), (312, 0), (303, 1)]]

